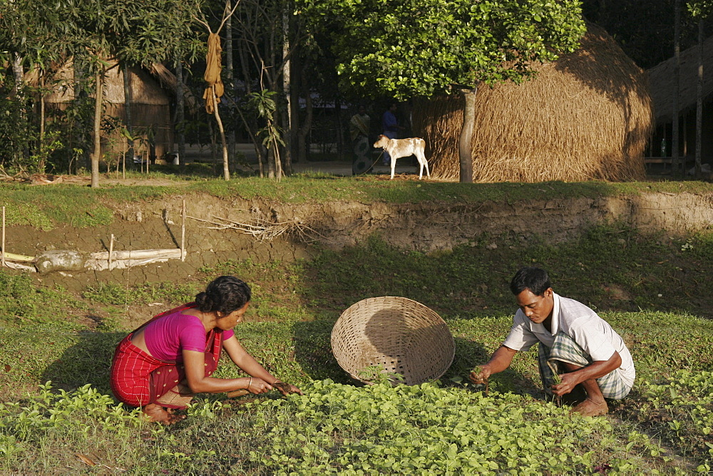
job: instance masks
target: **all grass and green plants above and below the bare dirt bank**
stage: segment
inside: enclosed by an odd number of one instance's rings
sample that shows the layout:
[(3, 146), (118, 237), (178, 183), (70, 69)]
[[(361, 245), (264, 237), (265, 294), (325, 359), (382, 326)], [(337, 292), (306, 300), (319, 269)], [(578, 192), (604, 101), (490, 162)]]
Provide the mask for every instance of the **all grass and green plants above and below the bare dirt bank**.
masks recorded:
[[(359, 190), (364, 200), (389, 194), (400, 200), (411, 196), (409, 187), (433, 185), (429, 193), (439, 200), (453, 195), (467, 202), (497, 194), (500, 200), (526, 200), (520, 195), (523, 187), (535, 187), (505, 184), (473, 191), (458, 184), (332, 177), (297, 177), (282, 184), (252, 180), (216, 180), (200, 189), (249, 196), (267, 194), (271, 187), (271, 196), (284, 200), (321, 180), (331, 185), (313, 196), (334, 199)], [(642, 192), (648, 186), (611, 185), (609, 192)], [(682, 188), (697, 186), (707, 187), (686, 182)], [(571, 197), (588, 187), (600, 184), (561, 189)], [(0, 194), (44, 204), (47, 208), (37, 209), (52, 223), (81, 215), (81, 207), (61, 207), (61, 188), (52, 190), (46, 201), (34, 195), (36, 189), (23, 187), (2, 188)], [(71, 198), (88, 203), (81, 197), (106, 194), (93, 205), (153, 200), (170, 190), (116, 187), (71, 192), (78, 194)], [(508, 191), (512, 195), (503, 198)], [(51, 209), (63, 211), (48, 214)], [(493, 242), (497, 248), (488, 246)], [(450, 467), (456, 473), (486, 474), (690, 474), (713, 466), (713, 234), (671, 239), (609, 224), (560, 244), (483, 235), (448, 252), (426, 254), (371, 237), (339, 252), (313, 251), (309, 261), (224, 262), (177, 284), (108, 283), (89, 286), (81, 295), (0, 271), (0, 393), (5, 400), (0, 404), (0, 472), (443, 474)], [(525, 264), (549, 269), (556, 292), (595, 306), (630, 346), (637, 385), (612, 405), (610, 418), (570, 418), (566, 409), (537, 401), (543, 393), (535, 351), (519, 354), (508, 371), (491, 377), (487, 396), (483, 388), (466, 385), (468, 371), (483, 363), (508, 332), (515, 304), (507, 284)], [(188, 301), (218, 274), (236, 274), (252, 286), (246, 322), (236, 328), (247, 351), (307, 391), (288, 399), (266, 395), (250, 405), (237, 405), (225, 395), (201, 395), (183, 423), (147, 425), (108, 396), (113, 349), (130, 330), (119, 316), (128, 306)], [(360, 299), (383, 295), (415, 299), (446, 320), (456, 356), (440, 384), (354, 386), (334, 361), (329, 338), (339, 314)], [(236, 377), (240, 371), (224, 362), (216, 376)], [(46, 381), (51, 387), (43, 386)]]

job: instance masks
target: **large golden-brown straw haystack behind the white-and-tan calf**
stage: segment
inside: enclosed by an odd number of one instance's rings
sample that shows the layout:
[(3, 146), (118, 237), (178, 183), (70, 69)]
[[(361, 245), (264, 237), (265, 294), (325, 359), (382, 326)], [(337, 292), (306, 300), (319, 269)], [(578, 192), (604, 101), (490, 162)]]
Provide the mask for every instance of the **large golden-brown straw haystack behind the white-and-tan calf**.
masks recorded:
[[(481, 86), (471, 155), (476, 182), (637, 180), (652, 130), (644, 71), (598, 26), (575, 53), (534, 66), (536, 78)], [(463, 98), (414, 103), (432, 174), (458, 180)]]

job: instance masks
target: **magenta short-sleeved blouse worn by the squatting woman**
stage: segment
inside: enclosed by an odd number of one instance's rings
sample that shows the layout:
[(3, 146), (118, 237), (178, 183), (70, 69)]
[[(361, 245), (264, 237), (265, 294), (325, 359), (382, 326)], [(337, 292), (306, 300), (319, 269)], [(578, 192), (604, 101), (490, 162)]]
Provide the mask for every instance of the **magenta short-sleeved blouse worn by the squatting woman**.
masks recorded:
[[(223, 331), (223, 341), (235, 333)], [(181, 311), (166, 314), (150, 322), (143, 331), (148, 352), (160, 361), (183, 361), (182, 351), (205, 352), (206, 333), (196, 316)]]

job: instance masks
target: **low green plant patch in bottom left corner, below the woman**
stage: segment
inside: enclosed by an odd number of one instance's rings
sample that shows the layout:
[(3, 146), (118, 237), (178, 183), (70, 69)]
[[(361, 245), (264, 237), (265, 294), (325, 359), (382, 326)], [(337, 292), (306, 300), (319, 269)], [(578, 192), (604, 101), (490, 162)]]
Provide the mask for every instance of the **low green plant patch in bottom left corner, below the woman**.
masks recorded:
[(150, 443), (134, 445), (139, 435), (150, 442), (163, 433), (160, 425), (145, 425), (138, 410), (116, 405), (89, 385), (67, 393), (53, 391), (48, 382), (22, 403), (0, 403), (0, 468), (6, 474), (48, 474), (62, 467), (78, 474), (91, 462), (123, 472), (133, 457), (145, 459), (153, 449)]

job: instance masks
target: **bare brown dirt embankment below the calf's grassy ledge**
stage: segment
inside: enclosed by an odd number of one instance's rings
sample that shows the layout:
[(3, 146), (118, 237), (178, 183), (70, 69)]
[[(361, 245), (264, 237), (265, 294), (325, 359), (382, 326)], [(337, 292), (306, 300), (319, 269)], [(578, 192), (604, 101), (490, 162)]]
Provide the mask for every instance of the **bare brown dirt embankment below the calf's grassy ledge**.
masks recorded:
[[(7, 231), (7, 251), (36, 255), (71, 249), (83, 253), (108, 250), (178, 248), (180, 199), (116, 208), (107, 227), (61, 226), (50, 232), (30, 227)], [(38, 276), (45, 284), (83, 289), (97, 281), (180, 281), (202, 266), (228, 259), (255, 262), (309, 257), (311, 243), (330, 248), (356, 244), (379, 233), (389, 243), (430, 252), (473, 242), (488, 234), (525, 241), (541, 234), (550, 242), (578, 236), (591, 224), (620, 221), (644, 232), (684, 234), (713, 227), (713, 195), (651, 193), (638, 197), (602, 197), (522, 201), (513, 204), (283, 204), (265, 200), (191, 197), (187, 203), (185, 262), (148, 264), (112, 271), (53, 272)]]

